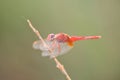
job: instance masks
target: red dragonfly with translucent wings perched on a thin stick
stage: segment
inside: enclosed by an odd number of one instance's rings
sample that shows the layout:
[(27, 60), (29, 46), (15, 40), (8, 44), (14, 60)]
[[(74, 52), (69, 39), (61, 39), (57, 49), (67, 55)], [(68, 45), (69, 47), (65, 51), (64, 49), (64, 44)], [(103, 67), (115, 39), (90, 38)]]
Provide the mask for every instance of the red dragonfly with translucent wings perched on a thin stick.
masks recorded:
[(42, 51), (42, 56), (50, 56), (50, 58), (57, 57), (69, 51), (74, 42), (79, 40), (99, 39), (101, 36), (69, 36), (65, 33), (49, 34), (45, 43), (52, 50), (50, 54), (48, 47), (46, 47), (41, 40), (35, 41), (33, 47)]

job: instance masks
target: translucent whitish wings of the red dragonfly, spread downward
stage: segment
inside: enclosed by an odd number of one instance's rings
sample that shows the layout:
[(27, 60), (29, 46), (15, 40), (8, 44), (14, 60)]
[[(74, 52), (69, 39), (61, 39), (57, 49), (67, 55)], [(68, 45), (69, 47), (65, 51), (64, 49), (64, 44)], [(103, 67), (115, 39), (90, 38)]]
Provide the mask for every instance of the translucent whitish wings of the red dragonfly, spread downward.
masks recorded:
[(54, 40), (54, 41), (45, 40), (45, 42), (49, 46), (49, 48), (53, 51), (52, 54), (49, 53), (48, 48), (45, 47), (44, 44), (40, 40), (35, 41), (33, 43), (33, 48), (40, 49), (42, 51), (42, 56), (50, 56), (51, 58), (53, 56), (57, 57), (59, 55), (67, 53), (67, 51), (69, 51), (72, 48), (67, 43), (57, 42), (56, 40)]

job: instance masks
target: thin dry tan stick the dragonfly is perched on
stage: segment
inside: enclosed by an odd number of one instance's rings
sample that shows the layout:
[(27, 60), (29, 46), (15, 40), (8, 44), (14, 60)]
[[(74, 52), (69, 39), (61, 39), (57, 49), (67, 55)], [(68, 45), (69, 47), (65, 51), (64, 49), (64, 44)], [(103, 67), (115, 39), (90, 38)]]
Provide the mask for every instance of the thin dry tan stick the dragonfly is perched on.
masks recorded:
[[(49, 49), (50, 54), (53, 54), (53, 51), (49, 48), (49, 46), (45, 43), (44, 39), (41, 37), (40, 33), (38, 30), (36, 30), (32, 23), (30, 22), (30, 20), (27, 20), (30, 28), (34, 31), (34, 33), (38, 36), (38, 38), (42, 41), (42, 43), (44, 44), (45, 47), (47, 47)], [(67, 80), (71, 80), (70, 76), (68, 75), (68, 73), (66, 72), (64, 66), (58, 61), (58, 59), (53, 56), (53, 60), (56, 63), (56, 67), (66, 76)]]

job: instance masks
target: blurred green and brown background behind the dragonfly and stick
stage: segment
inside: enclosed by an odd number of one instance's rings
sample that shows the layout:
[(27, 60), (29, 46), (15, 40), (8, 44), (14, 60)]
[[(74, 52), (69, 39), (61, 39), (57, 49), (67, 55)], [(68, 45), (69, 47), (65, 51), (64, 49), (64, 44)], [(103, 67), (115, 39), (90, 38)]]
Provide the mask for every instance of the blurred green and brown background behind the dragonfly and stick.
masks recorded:
[(42, 57), (26, 19), (49, 33), (101, 35), (75, 43), (58, 59), (72, 80), (120, 80), (119, 0), (0, 0), (0, 80), (65, 80), (53, 60)]

